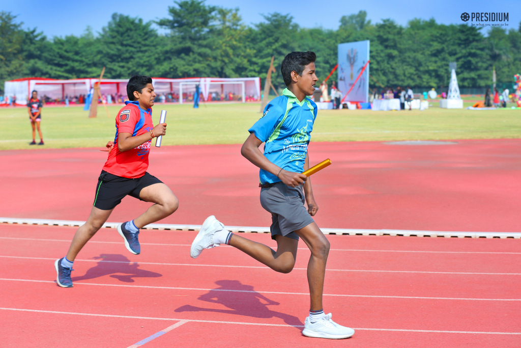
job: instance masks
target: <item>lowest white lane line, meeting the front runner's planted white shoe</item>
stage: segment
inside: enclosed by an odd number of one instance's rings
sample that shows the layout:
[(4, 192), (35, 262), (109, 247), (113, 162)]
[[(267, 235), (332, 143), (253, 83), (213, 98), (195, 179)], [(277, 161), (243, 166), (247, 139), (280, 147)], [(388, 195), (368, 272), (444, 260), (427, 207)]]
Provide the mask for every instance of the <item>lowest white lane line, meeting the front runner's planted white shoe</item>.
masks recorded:
[[(33, 312), (33, 313), (48, 313), (48, 314), (81, 315), (81, 316), (91, 316), (91, 317), (184, 321), (183, 323), (185, 323), (185, 322), (209, 322), (209, 323), (216, 323), (216, 324), (276, 326), (276, 327), (288, 327), (288, 328), (289, 327), (295, 327), (295, 328), (303, 328), (304, 327), (303, 325), (269, 324), (269, 323), (258, 323), (258, 322), (241, 322), (241, 321), (199, 320), (199, 319), (134, 317), (134, 316), (124, 316), (124, 315), (77, 313), (77, 312), (64, 312), (64, 311), (39, 310), (39, 309), (22, 309), (22, 308), (4, 308), (4, 307), (0, 307), (0, 310), (26, 311), (26, 312)], [(367, 330), (367, 331), (401, 331), (401, 332), (433, 332), (433, 333), (470, 333), (470, 334), (521, 335), (521, 332), (410, 330), (410, 329), (385, 329), (385, 328), (353, 328), (353, 329), (354, 330), (361, 330), (361, 331)]]

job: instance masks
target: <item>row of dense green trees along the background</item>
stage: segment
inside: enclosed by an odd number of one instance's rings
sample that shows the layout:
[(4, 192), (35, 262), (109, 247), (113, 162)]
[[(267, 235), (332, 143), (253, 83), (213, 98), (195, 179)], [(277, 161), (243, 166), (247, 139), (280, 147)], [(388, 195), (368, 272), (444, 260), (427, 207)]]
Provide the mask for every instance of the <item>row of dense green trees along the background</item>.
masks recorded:
[[(265, 78), (271, 56), (277, 69), (272, 83), (280, 89), (280, 63), (288, 52), (317, 53), (320, 82), (337, 64), (337, 45), (361, 40), (370, 40), (370, 88), (446, 88), (453, 61), (460, 87), (489, 86), (493, 68), (499, 82), (521, 73), (521, 23), (519, 28), (491, 27), (485, 36), (477, 27), (443, 25), (432, 18), (412, 19), (405, 27), (392, 19), (371, 23), (362, 10), (342, 16), (336, 30), (303, 28), (280, 13), (247, 26), (239, 8), (182, 0), (157, 21), (115, 13), (98, 33), (87, 27), (79, 36), (49, 39), (22, 26), (13, 14), (0, 12), (0, 92), (5, 80), (95, 77), (103, 66), (105, 78)], [(336, 80), (336, 73), (331, 78)]]

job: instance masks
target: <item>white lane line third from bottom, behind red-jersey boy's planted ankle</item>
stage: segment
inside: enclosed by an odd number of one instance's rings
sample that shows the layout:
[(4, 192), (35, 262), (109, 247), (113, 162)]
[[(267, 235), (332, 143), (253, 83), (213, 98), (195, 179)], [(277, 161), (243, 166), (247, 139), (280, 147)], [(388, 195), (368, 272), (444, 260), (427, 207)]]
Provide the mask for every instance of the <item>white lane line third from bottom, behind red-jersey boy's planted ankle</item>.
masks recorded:
[[(4, 258), (13, 259), (32, 259), (32, 260), (56, 260), (50, 257), (25, 257), (25, 256), (7, 256), (0, 255)], [(75, 261), (84, 262), (109, 262), (109, 263), (139, 263), (139, 265), (161, 265), (161, 266), (186, 266), (186, 267), (223, 267), (223, 268), (255, 268), (255, 269), (270, 269), (267, 266), (237, 266), (237, 265), (205, 265), (197, 263), (165, 263), (165, 262), (141, 262), (141, 261), (110, 261), (110, 260), (81, 260)], [(307, 271), (307, 268), (293, 268), (294, 270)], [(438, 272), (438, 271), (393, 271), (393, 270), (367, 270), (367, 269), (331, 269), (331, 272), (383, 272), (383, 273), (427, 273), (427, 274), (472, 274), (472, 275), (521, 275), (521, 273), (487, 273), (487, 272)]]

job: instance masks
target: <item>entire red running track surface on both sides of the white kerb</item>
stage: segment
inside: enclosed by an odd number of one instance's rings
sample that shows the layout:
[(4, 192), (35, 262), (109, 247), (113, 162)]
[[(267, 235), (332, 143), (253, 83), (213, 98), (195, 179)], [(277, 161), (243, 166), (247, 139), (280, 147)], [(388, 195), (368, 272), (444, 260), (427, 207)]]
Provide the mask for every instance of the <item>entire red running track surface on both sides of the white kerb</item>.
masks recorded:
[[(337, 228), (519, 232), (519, 145), (313, 143), (312, 163), (333, 162), (312, 177), (316, 220)], [(106, 153), (0, 156), (1, 217), (86, 219)], [(257, 171), (238, 146), (153, 149), (150, 172), (181, 201), (165, 223), (200, 224), (215, 213), (228, 225), (269, 224), (258, 203)], [(127, 198), (109, 221), (146, 207)], [(142, 254), (132, 255), (114, 229), (103, 229), (75, 262), (75, 287), (61, 289), (53, 262), (75, 230), (0, 224), (0, 346), (129, 347), (167, 328), (145, 348), (521, 342), (519, 239), (329, 235), (325, 310), (356, 333), (324, 341), (301, 334), (309, 309), (303, 243), (295, 269), (279, 274), (227, 246), (193, 260), (195, 232), (145, 230)], [(274, 246), (267, 234), (245, 236)]]

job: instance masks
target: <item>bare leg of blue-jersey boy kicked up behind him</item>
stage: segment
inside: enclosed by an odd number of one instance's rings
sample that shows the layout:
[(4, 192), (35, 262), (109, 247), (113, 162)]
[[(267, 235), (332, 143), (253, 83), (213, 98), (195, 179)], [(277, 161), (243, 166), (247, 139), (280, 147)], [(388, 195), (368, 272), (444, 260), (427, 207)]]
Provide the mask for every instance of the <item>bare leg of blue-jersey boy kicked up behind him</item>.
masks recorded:
[(255, 260), (264, 263), (264, 265), (274, 271), (289, 273), (295, 266), (299, 241), (280, 235), (276, 235), (275, 240), (277, 241), (277, 251), (237, 234), (232, 235), (230, 245), (250, 255)]

